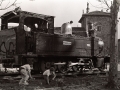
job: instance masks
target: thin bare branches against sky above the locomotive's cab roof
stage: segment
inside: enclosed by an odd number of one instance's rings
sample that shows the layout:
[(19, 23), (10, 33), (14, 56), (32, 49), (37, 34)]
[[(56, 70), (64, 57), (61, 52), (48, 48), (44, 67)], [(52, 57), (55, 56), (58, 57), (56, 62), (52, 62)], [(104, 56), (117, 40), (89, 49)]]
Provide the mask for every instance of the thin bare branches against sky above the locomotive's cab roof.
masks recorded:
[(11, 6), (15, 6), (16, 2), (17, 0), (0, 0), (0, 10), (5, 10), (10, 8)]

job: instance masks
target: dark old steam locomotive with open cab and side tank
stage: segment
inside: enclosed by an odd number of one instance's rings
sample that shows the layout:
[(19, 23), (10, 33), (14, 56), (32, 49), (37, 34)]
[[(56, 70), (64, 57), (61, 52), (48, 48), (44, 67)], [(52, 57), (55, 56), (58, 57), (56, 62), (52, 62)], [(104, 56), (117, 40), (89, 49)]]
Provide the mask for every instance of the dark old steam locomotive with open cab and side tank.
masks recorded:
[[(17, 26), (9, 28), (10, 23)], [(66, 66), (102, 68), (106, 56), (96, 37), (54, 33), (54, 16), (14, 10), (1, 16), (0, 57), (4, 67), (19, 67), (29, 62), (34, 71), (54, 65), (60, 72)], [(71, 62), (71, 63), (70, 63)], [(102, 62), (101, 65), (99, 62)]]

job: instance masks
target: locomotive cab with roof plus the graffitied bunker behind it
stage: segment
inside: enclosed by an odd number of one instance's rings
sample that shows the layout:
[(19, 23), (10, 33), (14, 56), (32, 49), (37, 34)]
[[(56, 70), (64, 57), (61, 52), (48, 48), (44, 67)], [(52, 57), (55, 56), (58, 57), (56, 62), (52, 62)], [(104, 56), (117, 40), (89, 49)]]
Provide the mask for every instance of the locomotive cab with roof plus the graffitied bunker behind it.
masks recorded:
[[(9, 27), (9, 23), (17, 23)], [(15, 9), (1, 16), (0, 55), (6, 63), (22, 64), (19, 56), (36, 53), (36, 34), (54, 33), (54, 16), (36, 14)], [(16, 58), (17, 56), (17, 58)], [(9, 60), (8, 58), (12, 58)], [(16, 59), (15, 59), (16, 58)]]

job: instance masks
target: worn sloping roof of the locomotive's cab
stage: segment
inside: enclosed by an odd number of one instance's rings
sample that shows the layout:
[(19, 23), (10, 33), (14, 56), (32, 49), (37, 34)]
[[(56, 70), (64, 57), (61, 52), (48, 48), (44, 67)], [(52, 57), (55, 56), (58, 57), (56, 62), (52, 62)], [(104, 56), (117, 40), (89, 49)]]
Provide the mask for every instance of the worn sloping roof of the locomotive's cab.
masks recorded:
[(27, 12), (27, 11), (9, 11), (1, 16), (1, 19), (7, 20), (8, 22), (14, 22), (19, 23), (19, 17), (25, 16), (25, 17), (33, 17), (33, 18), (39, 18), (43, 20), (47, 20), (47, 18), (54, 18), (54, 16), (50, 15), (44, 15), (44, 14), (37, 14), (33, 12)]

